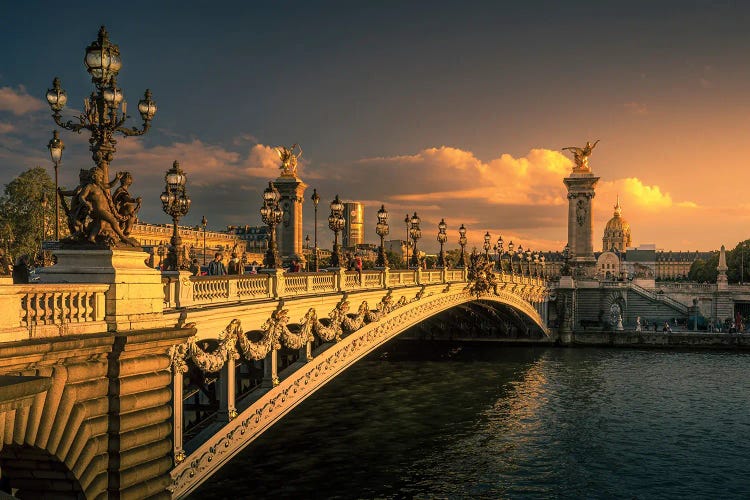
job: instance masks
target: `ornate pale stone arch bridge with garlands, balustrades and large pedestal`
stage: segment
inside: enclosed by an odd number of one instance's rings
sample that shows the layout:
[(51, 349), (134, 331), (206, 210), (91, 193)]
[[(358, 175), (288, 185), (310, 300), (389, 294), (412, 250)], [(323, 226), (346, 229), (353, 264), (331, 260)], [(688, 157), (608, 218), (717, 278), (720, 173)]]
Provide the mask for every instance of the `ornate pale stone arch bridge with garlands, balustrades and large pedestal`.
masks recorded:
[(451, 308), (481, 303), (550, 335), (538, 276), (193, 277), (142, 252), (86, 253), (60, 251), (47, 283), (0, 285), (0, 489), (19, 498), (185, 497), (347, 367)]

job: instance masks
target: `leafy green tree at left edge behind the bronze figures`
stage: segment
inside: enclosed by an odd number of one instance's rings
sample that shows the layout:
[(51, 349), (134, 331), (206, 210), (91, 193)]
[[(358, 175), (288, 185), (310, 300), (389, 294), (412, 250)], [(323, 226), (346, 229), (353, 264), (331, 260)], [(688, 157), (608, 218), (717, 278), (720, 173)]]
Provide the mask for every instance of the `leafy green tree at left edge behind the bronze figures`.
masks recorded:
[[(42, 208), (43, 193), (47, 198), (46, 209)], [(0, 197), (3, 250), (7, 247), (15, 257), (39, 253), (42, 238), (54, 237), (55, 196), (55, 184), (42, 167), (26, 170), (5, 185)], [(43, 235), (45, 229), (46, 235)], [(61, 235), (67, 233), (64, 219), (60, 230)]]

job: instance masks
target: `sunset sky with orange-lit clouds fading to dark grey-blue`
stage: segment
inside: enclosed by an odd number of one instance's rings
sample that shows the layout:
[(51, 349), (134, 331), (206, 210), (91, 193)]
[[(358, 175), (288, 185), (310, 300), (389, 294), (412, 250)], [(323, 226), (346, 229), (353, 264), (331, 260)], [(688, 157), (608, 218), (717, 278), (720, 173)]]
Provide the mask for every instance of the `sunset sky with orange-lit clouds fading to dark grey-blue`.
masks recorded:
[[(44, 100), (60, 77), (65, 119), (93, 85), (86, 46), (105, 25), (136, 113), (158, 105), (143, 137), (118, 138), (112, 172), (130, 171), (141, 220), (166, 223), (159, 194), (177, 160), (190, 213), (209, 229), (259, 225), (273, 148), (299, 143), (304, 234), (319, 241), (336, 194), (422, 219), (435, 250), (445, 218), (469, 245), (560, 250), (567, 239), (567, 146), (600, 140), (594, 248), (619, 195), (634, 245), (728, 248), (750, 237), (750, 4), (612, 2), (2, 2), (0, 184), (53, 169), (56, 127)], [(140, 120), (131, 118), (131, 126)], [(60, 184), (93, 163), (85, 135), (61, 131)]]

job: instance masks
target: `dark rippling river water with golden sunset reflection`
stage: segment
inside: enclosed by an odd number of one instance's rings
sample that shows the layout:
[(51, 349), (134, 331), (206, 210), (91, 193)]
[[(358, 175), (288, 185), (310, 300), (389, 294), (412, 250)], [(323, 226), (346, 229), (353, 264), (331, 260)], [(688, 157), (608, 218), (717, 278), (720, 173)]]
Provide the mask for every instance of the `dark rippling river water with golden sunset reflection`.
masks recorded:
[(192, 498), (750, 498), (750, 354), (391, 343)]

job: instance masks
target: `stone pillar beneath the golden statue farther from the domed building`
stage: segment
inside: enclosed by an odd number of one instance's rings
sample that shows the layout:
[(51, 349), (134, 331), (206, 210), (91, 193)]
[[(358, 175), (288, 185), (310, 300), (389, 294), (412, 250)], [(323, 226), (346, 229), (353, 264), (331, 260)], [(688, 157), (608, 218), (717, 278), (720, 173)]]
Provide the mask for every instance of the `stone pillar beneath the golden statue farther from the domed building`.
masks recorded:
[(281, 198), (279, 206), (284, 210), (281, 224), (276, 226), (276, 236), (281, 258), (288, 262), (296, 259), (304, 263), (302, 255), (302, 203), (307, 184), (294, 174), (284, 173), (274, 181)]

